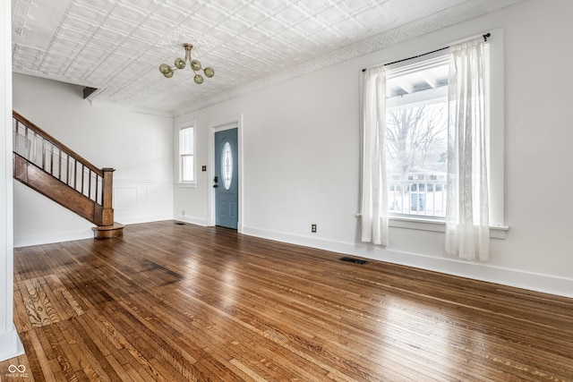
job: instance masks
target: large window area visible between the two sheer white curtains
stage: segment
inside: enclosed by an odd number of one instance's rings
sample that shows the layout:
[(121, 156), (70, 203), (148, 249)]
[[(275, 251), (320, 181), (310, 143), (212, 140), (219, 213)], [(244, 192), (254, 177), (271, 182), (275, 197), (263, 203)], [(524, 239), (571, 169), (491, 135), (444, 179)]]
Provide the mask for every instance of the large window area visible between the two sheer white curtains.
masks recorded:
[(387, 68), (390, 215), (446, 215), (448, 64), (444, 50)]

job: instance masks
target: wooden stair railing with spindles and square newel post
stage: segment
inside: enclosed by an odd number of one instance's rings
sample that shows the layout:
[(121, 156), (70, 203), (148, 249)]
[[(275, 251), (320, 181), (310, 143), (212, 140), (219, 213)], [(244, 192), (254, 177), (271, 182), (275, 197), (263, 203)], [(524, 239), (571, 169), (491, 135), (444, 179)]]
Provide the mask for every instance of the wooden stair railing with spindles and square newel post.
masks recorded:
[[(113, 225), (113, 168), (99, 169), (13, 111), (13, 152), (101, 207), (97, 225)], [(99, 214), (98, 214), (99, 215)]]

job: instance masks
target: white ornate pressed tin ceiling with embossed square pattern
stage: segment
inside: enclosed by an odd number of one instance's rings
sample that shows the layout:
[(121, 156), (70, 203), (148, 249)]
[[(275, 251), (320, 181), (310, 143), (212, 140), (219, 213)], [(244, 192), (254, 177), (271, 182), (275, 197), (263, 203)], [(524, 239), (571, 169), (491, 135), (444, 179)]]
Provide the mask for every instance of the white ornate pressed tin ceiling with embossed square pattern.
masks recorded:
[[(94, 105), (175, 115), (523, 0), (12, 0), (13, 72), (97, 88)], [(216, 75), (167, 80), (184, 56)]]

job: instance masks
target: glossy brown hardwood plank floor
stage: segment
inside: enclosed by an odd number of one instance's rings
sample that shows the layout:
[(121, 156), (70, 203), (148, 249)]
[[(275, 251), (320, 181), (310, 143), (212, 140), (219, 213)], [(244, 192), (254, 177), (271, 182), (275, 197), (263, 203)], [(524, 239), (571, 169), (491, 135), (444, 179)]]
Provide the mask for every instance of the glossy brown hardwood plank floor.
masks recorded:
[(340, 257), (174, 222), (16, 249), (0, 379), (573, 381), (573, 300)]

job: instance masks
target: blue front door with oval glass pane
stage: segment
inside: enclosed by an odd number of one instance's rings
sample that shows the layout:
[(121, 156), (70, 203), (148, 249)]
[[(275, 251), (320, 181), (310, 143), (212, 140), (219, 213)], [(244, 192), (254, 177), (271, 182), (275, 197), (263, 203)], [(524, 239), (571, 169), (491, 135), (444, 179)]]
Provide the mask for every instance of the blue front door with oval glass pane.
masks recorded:
[(237, 129), (215, 132), (215, 224), (237, 228), (239, 215), (239, 161)]

